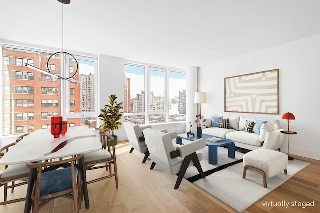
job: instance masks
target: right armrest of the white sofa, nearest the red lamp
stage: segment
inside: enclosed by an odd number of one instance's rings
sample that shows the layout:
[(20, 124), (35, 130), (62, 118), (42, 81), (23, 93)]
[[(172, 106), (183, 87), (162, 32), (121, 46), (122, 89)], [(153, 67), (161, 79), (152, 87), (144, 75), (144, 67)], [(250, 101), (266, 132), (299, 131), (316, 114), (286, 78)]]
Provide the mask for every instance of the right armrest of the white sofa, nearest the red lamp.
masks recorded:
[(284, 142), (285, 134), (281, 133), (283, 130), (284, 129), (277, 129), (267, 132), (262, 148), (271, 150), (279, 149)]

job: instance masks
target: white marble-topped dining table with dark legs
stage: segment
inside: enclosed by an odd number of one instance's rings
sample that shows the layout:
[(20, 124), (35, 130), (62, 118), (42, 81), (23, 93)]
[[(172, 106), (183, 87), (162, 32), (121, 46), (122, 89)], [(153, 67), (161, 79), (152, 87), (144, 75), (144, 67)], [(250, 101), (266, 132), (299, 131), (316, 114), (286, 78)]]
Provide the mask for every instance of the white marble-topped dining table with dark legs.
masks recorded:
[[(1, 159), (0, 164), (12, 165), (27, 162), (38, 162), (50, 159), (59, 159), (82, 153), (94, 152), (102, 148), (99, 137), (86, 126), (68, 127), (67, 133), (54, 138), (50, 129), (39, 129), (24, 136), (21, 141), (12, 146)], [(86, 183), (84, 160), (79, 162), (81, 170), (82, 190), (85, 207), (88, 209), (89, 196)], [(30, 168), (29, 181), (26, 193), (24, 213), (31, 211), (31, 193), (36, 178), (37, 169)]]

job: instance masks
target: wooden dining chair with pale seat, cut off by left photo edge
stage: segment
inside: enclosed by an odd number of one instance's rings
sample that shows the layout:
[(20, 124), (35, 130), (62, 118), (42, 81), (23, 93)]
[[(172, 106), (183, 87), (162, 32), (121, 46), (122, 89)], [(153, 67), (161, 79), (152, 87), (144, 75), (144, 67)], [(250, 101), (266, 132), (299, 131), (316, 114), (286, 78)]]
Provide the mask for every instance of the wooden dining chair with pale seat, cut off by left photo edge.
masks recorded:
[[(0, 149), (0, 158), (2, 158), (9, 151), (9, 148), (14, 146), (16, 143), (17, 142), (10, 143), (2, 147)], [(4, 170), (0, 171), (0, 187), (4, 186), (3, 201), (0, 202), (0, 205), (11, 204), (11, 203), (25, 200), (25, 197), (7, 200), (7, 195), (8, 195), (8, 189), (11, 188), (11, 193), (13, 193), (14, 187), (18, 187), (28, 183), (29, 172), (30, 172), (30, 168), (28, 168), (25, 164), (13, 164), (10, 166), (4, 165)], [(16, 181), (19, 181), (19, 182), (16, 183)]]

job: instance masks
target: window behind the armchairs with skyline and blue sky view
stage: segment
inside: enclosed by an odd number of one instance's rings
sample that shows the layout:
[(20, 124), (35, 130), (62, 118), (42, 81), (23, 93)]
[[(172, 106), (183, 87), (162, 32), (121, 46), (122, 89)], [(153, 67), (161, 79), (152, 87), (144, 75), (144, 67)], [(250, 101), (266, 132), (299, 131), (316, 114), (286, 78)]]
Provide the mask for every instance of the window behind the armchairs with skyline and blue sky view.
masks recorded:
[(125, 121), (185, 121), (185, 72), (135, 64), (125, 64), (124, 72)]

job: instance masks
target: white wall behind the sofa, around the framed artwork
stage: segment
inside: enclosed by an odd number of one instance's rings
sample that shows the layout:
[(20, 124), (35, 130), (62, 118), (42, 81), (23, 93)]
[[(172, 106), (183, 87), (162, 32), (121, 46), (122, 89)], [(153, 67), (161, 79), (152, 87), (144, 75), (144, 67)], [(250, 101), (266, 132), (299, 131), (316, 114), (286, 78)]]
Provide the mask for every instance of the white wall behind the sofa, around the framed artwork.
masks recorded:
[[(271, 69), (279, 69), (279, 115), (224, 112), (224, 78)], [(320, 160), (318, 140), (320, 119), (320, 34), (243, 55), (230, 60), (202, 66), (198, 69), (199, 91), (207, 93), (207, 103), (201, 105), (204, 116), (242, 115), (246, 117), (279, 119), (287, 129), (285, 112), (296, 120), (290, 121), (290, 153)], [(287, 138), (281, 148), (287, 152)]]

